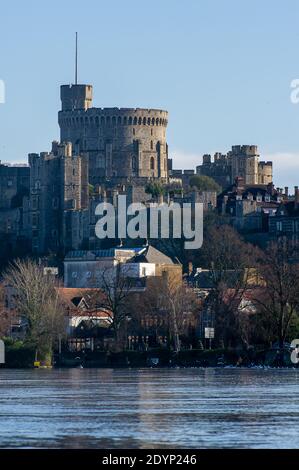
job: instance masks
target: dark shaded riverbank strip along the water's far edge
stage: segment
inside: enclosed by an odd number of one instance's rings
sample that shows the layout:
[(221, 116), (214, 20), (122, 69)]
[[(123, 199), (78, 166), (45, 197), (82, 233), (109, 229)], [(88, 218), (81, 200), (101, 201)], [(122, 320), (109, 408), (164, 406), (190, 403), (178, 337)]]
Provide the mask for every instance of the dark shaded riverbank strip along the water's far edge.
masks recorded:
[[(31, 346), (6, 348), (6, 368), (33, 368), (35, 350)], [(248, 351), (242, 349), (183, 350), (179, 353), (167, 349), (149, 351), (63, 351), (53, 356), (53, 367), (59, 368), (163, 368), (163, 367), (294, 367), (290, 351), (283, 354), (277, 349)], [(41, 366), (43, 363), (41, 362)]]

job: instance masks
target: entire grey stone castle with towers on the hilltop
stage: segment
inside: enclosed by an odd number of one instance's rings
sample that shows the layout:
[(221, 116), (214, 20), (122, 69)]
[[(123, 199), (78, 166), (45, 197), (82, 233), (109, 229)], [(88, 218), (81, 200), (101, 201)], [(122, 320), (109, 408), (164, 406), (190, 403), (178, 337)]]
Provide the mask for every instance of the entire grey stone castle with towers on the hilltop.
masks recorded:
[[(120, 194), (128, 204), (146, 202), (149, 182), (179, 184), (185, 196), (195, 171), (172, 167), (167, 111), (95, 108), (91, 85), (63, 85), (58, 122), (60, 141), (50, 152), (29, 154), (29, 166), (0, 165), (0, 233), (8, 252), (17, 245), (39, 255), (94, 249), (97, 204), (117, 205)], [(259, 162), (256, 146), (234, 146), (214, 161), (204, 155), (196, 173), (223, 189), (236, 176), (246, 184), (272, 183), (272, 163)]]

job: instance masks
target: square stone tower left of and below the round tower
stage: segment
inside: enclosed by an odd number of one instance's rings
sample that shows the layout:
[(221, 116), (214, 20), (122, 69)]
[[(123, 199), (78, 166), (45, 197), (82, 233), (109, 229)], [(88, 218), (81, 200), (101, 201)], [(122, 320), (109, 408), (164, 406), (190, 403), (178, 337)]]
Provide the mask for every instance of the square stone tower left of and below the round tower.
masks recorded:
[(51, 152), (29, 154), (29, 166), (32, 251), (79, 246), (78, 224), (88, 209), (87, 158), (74, 155), (71, 143), (53, 142)]

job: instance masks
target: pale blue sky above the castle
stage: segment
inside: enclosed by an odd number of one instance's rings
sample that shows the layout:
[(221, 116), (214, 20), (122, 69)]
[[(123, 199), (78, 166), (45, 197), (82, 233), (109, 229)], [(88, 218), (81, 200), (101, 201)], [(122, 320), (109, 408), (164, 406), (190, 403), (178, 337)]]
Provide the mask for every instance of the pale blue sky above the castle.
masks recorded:
[(176, 168), (257, 144), (277, 185), (299, 184), (298, 0), (1, 0), (0, 159), (59, 138), (59, 86), (94, 86), (99, 107), (169, 111)]

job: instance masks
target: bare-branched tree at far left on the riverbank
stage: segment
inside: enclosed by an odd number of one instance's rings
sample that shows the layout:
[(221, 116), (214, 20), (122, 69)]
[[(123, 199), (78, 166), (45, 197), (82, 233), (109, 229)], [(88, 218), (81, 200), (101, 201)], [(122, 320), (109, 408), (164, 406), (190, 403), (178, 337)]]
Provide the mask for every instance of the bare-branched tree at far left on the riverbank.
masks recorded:
[(36, 346), (36, 357), (51, 356), (54, 341), (65, 334), (64, 314), (54, 278), (27, 259), (11, 264), (4, 273), (4, 282), (13, 289), (17, 313), (27, 320), (27, 337)]

